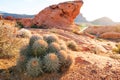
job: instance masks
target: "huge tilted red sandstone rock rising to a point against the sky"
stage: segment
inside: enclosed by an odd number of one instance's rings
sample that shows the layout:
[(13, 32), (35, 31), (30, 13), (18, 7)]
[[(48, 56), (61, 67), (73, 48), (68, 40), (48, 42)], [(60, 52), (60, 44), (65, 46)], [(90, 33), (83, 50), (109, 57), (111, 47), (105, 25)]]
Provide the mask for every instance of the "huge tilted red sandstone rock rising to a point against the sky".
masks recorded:
[[(74, 25), (74, 19), (79, 14), (83, 2), (71, 1), (52, 5), (45, 8), (33, 18), (33, 24), (44, 28), (60, 28), (71, 30)], [(79, 29), (73, 26), (72, 29)]]

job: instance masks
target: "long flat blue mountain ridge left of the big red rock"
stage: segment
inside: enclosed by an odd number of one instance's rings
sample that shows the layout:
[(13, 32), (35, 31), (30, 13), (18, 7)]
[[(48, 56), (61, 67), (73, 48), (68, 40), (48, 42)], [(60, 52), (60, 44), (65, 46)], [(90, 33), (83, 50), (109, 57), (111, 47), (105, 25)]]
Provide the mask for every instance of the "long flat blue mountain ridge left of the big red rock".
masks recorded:
[(14, 14), (14, 13), (7, 13), (3, 11), (0, 11), (0, 14), (3, 15), (3, 17), (12, 16), (14, 18), (33, 18), (34, 17), (34, 15)]

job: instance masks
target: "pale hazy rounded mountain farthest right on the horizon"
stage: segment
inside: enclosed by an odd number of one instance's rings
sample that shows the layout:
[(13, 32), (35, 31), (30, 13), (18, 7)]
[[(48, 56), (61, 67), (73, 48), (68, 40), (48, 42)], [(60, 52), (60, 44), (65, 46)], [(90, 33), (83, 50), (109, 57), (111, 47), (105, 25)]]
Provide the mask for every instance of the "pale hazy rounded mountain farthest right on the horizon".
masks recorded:
[(116, 22), (108, 17), (102, 17), (91, 22), (94, 25), (115, 25)]

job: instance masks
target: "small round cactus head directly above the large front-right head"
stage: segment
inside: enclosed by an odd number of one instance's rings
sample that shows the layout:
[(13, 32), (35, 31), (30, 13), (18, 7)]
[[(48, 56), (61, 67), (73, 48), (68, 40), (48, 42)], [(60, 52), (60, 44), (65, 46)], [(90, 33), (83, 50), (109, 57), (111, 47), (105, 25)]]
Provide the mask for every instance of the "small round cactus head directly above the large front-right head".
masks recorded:
[(61, 49), (60, 45), (56, 42), (52, 42), (49, 45), (48, 52), (58, 52)]

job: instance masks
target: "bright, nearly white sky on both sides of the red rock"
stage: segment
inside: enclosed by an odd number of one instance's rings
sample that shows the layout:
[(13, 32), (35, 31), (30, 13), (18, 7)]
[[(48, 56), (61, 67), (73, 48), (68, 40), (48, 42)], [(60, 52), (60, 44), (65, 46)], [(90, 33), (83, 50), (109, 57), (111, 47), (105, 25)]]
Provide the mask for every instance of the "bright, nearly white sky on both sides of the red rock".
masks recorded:
[[(45, 7), (72, 0), (1, 0), (0, 11), (18, 14), (37, 14)], [(120, 0), (83, 0), (81, 13), (91, 21), (109, 17), (120, 22)]]

